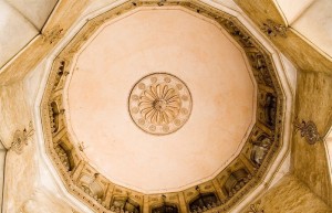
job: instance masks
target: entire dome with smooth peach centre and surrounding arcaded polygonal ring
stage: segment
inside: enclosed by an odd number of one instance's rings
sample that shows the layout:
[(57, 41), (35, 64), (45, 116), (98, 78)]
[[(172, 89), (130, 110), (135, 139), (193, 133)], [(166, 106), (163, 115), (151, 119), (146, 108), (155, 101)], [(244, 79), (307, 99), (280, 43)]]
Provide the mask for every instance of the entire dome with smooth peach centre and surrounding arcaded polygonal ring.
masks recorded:
[(128, 1), (90, 20), (42, 106), (50, 158), (96, 212), (228, 211), (282, 145), (272, 57), (196, 1)]

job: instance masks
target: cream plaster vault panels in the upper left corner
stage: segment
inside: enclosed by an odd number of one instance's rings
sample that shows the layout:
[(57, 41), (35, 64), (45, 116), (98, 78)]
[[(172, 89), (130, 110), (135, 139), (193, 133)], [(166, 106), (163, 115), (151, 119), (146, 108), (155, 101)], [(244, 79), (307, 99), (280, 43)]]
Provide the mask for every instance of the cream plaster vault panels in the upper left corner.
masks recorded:
[(0, 1), (0, 67), (42, 30), (58, 0)]

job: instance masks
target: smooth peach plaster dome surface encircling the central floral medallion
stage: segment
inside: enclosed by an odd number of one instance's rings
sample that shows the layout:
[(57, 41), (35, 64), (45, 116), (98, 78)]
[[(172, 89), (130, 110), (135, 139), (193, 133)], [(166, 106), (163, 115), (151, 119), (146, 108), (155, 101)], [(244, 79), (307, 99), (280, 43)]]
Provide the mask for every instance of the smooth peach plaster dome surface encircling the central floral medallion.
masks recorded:
[[(255, 119), (241, 52), (214, 23), (183, 10), (143, 10), (108, 23), (73, 72), (66, 111), (77, 141), (103, 174), (145, 192), (214, 178)], [(193, 97), (188, 121), (165, 136), (142, 131), (128, 114), (132, 87), (156, 72), (179, 77)]]

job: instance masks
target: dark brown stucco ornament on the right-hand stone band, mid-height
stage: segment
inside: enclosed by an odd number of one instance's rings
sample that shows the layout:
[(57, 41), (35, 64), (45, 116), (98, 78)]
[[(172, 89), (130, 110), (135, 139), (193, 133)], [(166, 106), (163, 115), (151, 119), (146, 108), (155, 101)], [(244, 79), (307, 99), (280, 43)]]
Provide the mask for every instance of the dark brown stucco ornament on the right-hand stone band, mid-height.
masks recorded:
[(314, 145), (315, 142), (320, 141), (322, 137), (320, 136), (317, 126), (313, 121), (304, 121), (300, 124), (299, 121), (295, 121), (295, 131), (300, 130), (301, 131), (301, 137), (304, 137), (307, 142), (309, 145)]

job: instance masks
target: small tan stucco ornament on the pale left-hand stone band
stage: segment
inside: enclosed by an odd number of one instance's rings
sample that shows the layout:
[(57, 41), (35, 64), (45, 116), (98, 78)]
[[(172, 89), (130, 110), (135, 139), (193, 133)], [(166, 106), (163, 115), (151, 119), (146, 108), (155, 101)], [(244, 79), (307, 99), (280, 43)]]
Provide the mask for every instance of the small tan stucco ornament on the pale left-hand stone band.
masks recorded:
[(29, 138), (33, 135), (34, 129), (32, 123), (29, 124), (29, 129), (18, 129), (13, 135), (13, 141), (11, 142), (11, 149), (18, 155), (22, 153), (23, 148), (28, 146)]

